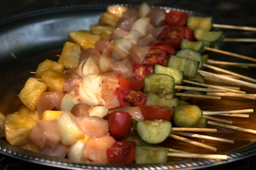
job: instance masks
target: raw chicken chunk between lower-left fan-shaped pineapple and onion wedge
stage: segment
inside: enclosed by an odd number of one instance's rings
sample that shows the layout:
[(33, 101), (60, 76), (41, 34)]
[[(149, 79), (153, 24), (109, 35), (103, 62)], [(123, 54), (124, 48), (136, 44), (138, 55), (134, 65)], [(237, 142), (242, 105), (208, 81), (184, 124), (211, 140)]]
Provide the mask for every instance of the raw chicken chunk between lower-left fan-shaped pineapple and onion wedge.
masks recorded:
[(61, 132), (57, 120), (38, 120), (28, 137), (40, 150), (43, 150), (46, 146), (55, 149), (61, 141)]

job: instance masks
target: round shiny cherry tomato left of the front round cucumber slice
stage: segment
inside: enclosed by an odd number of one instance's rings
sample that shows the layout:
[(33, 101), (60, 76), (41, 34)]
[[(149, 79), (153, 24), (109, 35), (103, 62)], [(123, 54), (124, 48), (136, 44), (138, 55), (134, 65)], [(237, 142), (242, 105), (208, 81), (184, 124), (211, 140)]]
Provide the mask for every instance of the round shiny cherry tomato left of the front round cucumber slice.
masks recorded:
[(121, 140), (130, 133), (132, 116), (125, 111), (114, 111), (103, 119), (108, 121), (109, 133), (116, 140)]

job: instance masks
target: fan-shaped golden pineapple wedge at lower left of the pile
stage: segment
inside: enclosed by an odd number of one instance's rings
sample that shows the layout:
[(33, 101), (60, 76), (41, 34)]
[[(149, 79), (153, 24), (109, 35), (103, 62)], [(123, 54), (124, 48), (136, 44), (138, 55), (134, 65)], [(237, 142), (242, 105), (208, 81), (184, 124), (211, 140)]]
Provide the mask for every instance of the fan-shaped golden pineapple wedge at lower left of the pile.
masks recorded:
[(6, 140), (14, 146), (23, 146), (30, 142), (28, 135), (36, 126), (36, 121), (18, 114), (9, 114), (5, 119)]

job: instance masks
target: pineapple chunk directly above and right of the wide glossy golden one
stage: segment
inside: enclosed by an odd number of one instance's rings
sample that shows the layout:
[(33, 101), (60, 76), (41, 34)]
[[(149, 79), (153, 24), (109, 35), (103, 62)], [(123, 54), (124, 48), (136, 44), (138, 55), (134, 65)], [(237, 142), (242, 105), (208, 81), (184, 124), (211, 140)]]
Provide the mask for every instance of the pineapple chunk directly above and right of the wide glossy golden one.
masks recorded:
[(92, 25), (90, 26), (90, 33), (94, 35), (102, 34), (103, 40), (111, 40), (111, 33), (114, 28), (112, 26), (100, 26)]

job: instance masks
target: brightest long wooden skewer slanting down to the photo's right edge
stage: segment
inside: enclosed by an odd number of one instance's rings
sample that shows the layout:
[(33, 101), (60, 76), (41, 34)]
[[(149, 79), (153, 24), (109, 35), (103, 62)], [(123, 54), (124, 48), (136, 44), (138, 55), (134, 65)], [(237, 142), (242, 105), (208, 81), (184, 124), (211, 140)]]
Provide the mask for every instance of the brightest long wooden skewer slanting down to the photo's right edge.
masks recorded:
[(198, 73), (202, 73), (202, 74), (206, 74), (206, 75), (211, 75), (213, 77), (216, 77), (218, 79), (223, 79), (223, 80), (228, 81), (228, 82), (233, 82), (233, 83), (241, 84), (243, 86), (247, 86), (247, 87), (251, 87), (251, 88), (256, 88), (256, 84), (250, 83), (250, 82), (245, 82), (243, 80), (233, 79), (231, 77), (225, 77), (225, 76), (221, 76), (221, 75), (218, 75), (218, 74), (215, 74), (215, 73), (210, 73), (210, 72), (203, 71), (203, 70), (198, 70)]

